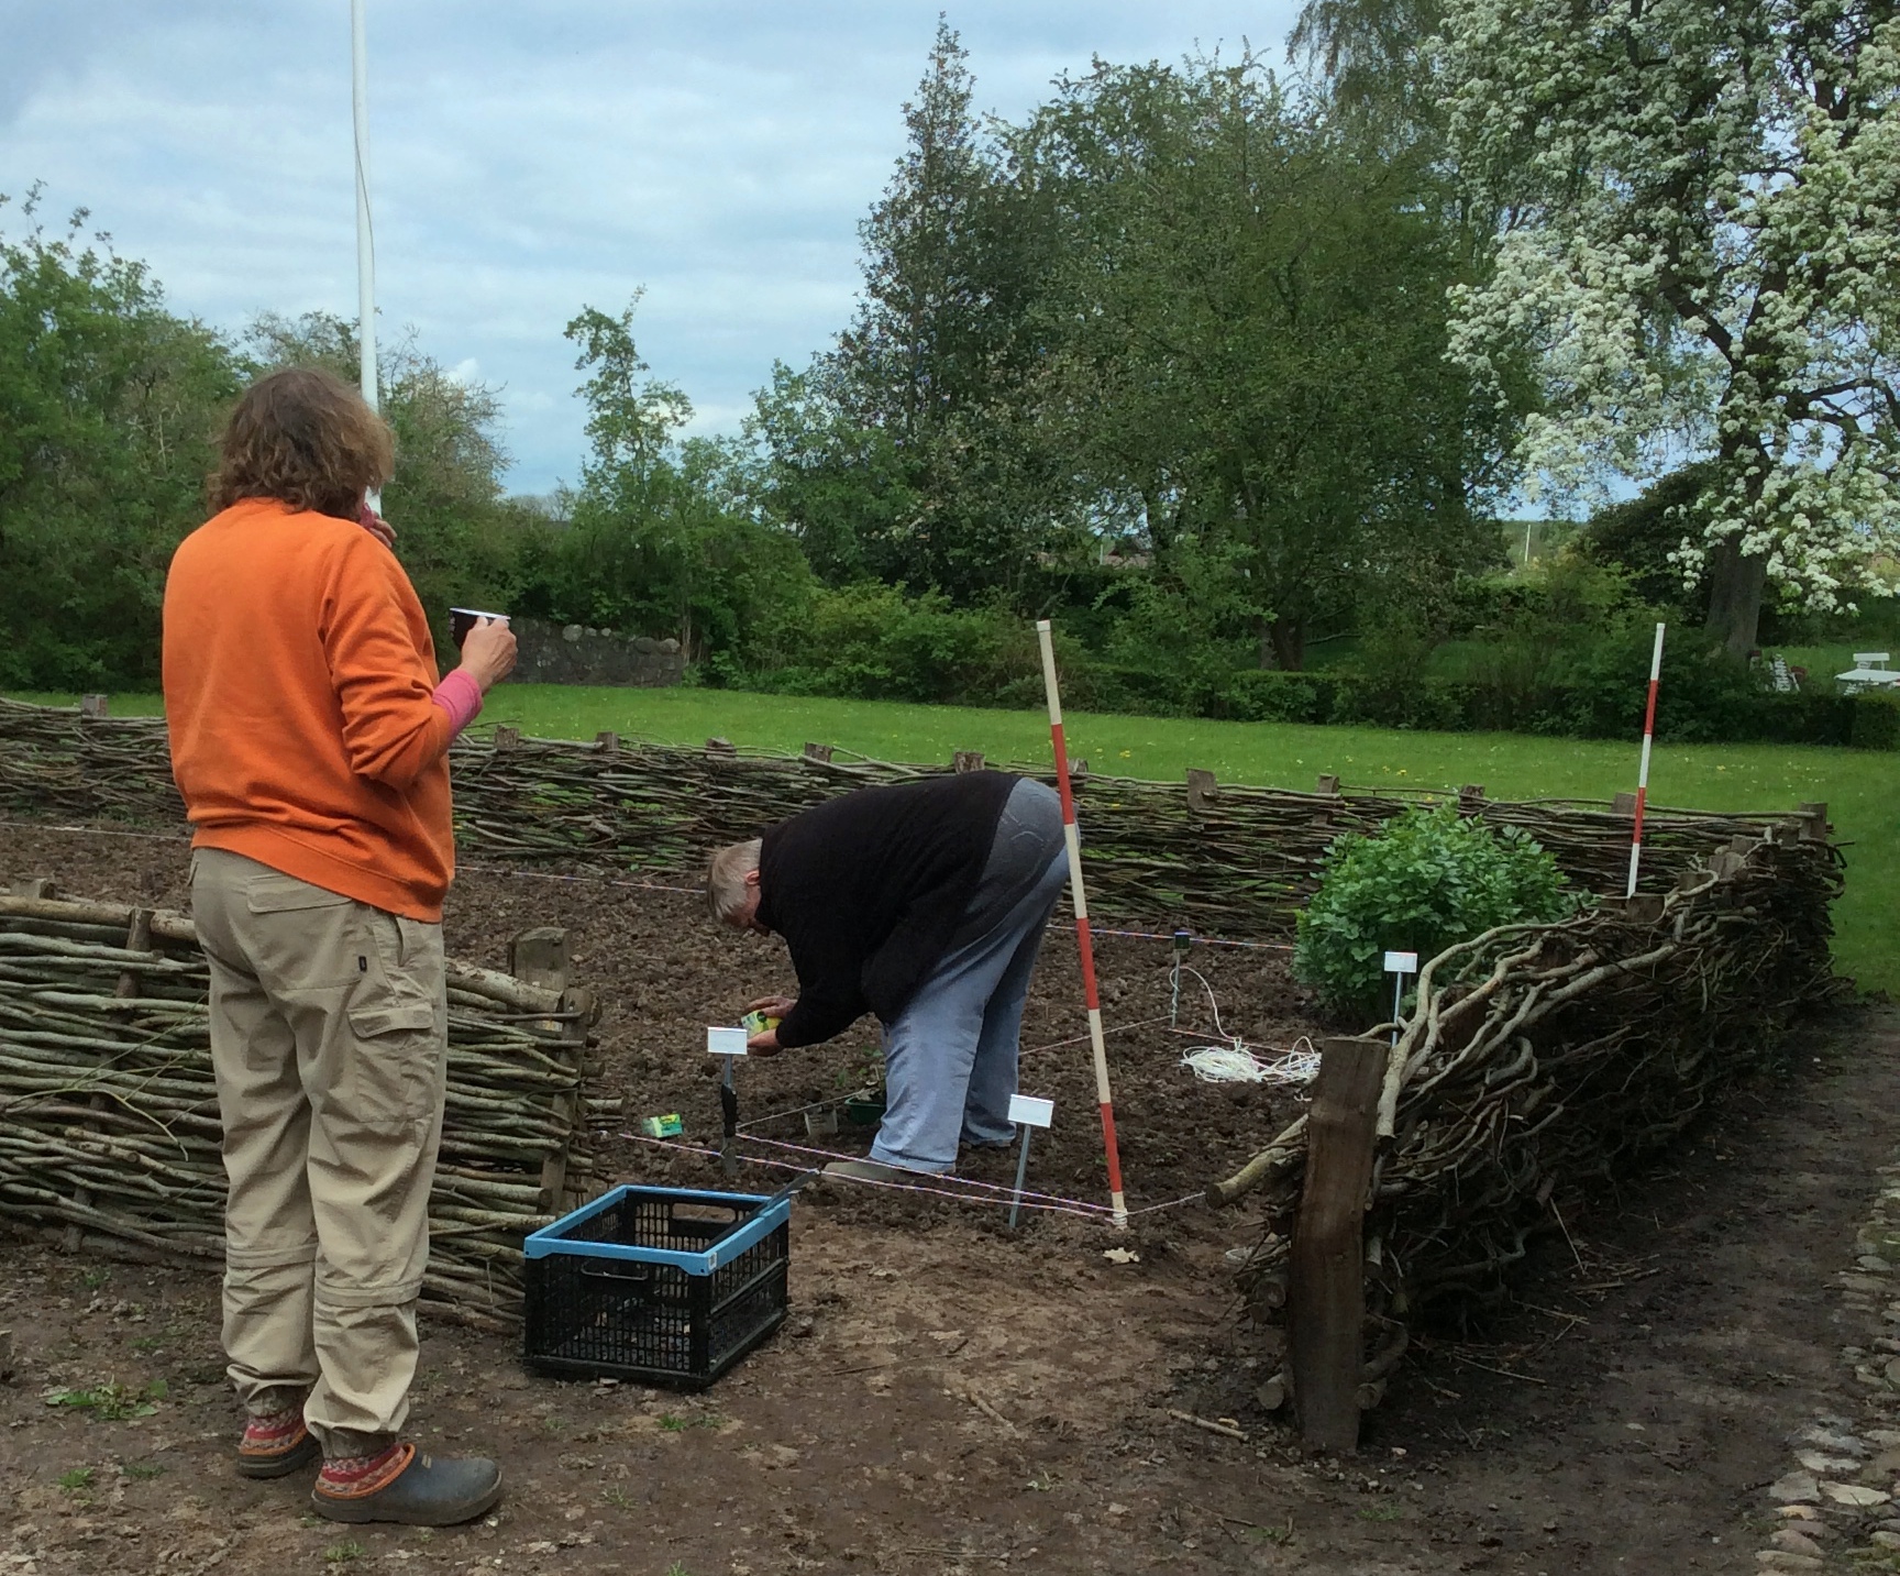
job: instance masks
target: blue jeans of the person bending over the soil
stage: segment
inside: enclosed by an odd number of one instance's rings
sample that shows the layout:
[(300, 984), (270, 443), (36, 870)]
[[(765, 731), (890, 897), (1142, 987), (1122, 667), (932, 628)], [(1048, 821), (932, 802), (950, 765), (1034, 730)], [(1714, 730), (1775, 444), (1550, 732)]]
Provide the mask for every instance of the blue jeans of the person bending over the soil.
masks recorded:
[(960, 1141), (1003, 1146), (1015, 1139), (1009, 1099), (1022, 1004), (1064, 880), (1060, 800), (1022, 781), (950, 951), (884, 1027), (885, 1112), (872, 1160), (948, 1171)]

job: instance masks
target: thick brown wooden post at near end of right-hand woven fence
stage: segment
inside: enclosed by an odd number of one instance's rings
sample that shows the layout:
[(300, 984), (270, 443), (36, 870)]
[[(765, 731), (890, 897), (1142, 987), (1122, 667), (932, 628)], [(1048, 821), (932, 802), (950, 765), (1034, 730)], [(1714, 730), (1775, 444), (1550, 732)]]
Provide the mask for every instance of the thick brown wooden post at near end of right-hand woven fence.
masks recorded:
[(1326, 1451), (1358, 1449), (1366, 1188), (1387, 1055), (1378, 1040), (1326, 1040), (1307, 1110), (1286, 1342), (1300, 1435)]

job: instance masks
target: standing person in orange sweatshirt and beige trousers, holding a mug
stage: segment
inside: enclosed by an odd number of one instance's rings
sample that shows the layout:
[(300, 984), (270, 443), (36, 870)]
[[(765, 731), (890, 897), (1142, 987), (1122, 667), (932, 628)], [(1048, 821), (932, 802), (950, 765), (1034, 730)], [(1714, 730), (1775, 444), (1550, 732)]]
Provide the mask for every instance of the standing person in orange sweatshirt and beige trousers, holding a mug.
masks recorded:
[(479, 625), (437, 677), (367, 506), (391, 456), (329, 373), (245, 392), (218, 513), (165, 582), (165, 721), (211, 964), (238, 1470), (321, 1454), (321, 1515), (450, 1525), (494, 1506), (502, 1473), (399, 1437), (443, 1124), (448, 743), (515, 637)]

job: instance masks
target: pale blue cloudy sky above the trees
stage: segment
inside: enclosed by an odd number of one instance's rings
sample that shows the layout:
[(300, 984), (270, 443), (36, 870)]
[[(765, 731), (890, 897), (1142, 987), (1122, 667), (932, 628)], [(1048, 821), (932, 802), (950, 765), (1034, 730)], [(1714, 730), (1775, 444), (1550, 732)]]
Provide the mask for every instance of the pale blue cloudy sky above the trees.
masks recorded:
[[(502, 386), (509, 485), (581, 454), (581, 304), (635, 321), (697, 430), (844, 325), (939, 4), (367, 0), (382, 333)], [(1298, 0), (952, 4), (978, 106), (1092, 55), (1275, 61)], [(0, 0), (0, 192), (91, 209), (177, 310), (355, 314), (350, 0)], [(19, 224), (0, 209), (0, 228)]]

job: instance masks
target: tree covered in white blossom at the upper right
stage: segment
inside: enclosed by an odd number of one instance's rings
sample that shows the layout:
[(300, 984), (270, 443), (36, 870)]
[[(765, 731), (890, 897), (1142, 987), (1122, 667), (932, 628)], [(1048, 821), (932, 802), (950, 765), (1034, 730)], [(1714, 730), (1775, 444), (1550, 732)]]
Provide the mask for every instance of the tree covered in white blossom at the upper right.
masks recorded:
[(1452, 354), (1541, 371), (1520, 460), (1575, 492), (1706, 460), (1708, 631), (1894, 589), (1900, 0), (1446, 0), (1429, 46), (1503, 215)]

